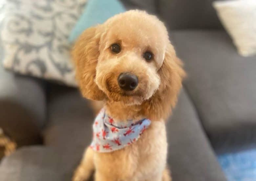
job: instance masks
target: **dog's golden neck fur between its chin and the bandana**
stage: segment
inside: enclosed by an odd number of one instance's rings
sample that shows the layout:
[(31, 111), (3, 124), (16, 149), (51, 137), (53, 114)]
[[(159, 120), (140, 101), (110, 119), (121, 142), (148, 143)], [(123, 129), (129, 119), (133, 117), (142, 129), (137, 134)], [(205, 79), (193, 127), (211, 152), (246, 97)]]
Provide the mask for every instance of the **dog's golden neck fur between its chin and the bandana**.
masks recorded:
[(105, 102), (104, 108), (106, 113), (116, 120), (140, 120), (146, 117), (142, 114), (141, 105), (128, 106), (122, 102), (108, 100)]

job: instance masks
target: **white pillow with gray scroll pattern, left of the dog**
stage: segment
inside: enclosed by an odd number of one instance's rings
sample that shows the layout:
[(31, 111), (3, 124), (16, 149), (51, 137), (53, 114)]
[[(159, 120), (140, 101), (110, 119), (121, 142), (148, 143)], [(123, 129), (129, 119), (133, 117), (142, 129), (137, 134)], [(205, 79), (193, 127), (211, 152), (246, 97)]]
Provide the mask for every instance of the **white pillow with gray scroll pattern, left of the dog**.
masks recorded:
[(68, 36), (86, 0), (4, 0), (0, 5), (5, 68), (76, 86)]

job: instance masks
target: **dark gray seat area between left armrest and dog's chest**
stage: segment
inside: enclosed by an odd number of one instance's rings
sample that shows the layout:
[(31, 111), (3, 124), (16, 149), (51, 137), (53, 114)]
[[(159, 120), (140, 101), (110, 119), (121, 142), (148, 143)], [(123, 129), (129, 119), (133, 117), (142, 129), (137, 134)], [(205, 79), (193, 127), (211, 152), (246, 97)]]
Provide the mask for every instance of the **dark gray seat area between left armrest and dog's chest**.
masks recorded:
[(77, 89), (59, 85), (50, 86), (47, 108), (44, 144), (72, 155), (67, 159), (75, 167), (92, 139), (93, 111)]

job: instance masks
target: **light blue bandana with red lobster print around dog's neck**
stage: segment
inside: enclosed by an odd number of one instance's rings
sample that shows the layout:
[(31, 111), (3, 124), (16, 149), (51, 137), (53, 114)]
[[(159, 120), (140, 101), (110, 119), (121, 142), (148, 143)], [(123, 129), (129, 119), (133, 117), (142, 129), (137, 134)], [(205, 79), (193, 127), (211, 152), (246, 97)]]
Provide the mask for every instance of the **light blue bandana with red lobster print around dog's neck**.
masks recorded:
[(131, 145), (150, 125), (149, 119), (139, 121), (127, 120), (115, 122), (102, 109), (93, 124), (93, 141), (90, 145), (94, 151), (111, 152)]

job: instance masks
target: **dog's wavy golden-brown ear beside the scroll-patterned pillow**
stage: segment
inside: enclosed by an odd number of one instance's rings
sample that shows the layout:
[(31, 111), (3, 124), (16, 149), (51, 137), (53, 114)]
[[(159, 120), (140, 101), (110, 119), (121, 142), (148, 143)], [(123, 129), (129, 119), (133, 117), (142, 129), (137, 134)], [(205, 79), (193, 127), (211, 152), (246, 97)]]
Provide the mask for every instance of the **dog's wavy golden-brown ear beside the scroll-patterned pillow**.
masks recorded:
[(72, 51), (76, 67), (76, 80), (84, 97), (103, 100), (105, 94), (95, 83), (96, 65), (99, 56), (100, 26), (85, 30)]

